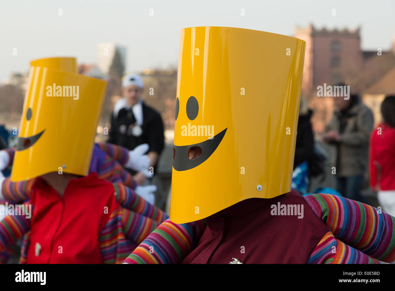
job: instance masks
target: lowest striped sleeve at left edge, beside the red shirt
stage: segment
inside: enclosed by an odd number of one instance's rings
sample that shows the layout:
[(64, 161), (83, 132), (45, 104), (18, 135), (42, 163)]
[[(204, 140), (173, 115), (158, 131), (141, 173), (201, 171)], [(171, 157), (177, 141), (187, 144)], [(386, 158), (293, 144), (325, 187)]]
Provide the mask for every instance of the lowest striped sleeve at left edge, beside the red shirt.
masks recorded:
[[(21, 206), (27, 206), (28, 203)], [(0, 252), (30, 230), (30, 219), (25, 215), (7, 215), (0, 221)]]

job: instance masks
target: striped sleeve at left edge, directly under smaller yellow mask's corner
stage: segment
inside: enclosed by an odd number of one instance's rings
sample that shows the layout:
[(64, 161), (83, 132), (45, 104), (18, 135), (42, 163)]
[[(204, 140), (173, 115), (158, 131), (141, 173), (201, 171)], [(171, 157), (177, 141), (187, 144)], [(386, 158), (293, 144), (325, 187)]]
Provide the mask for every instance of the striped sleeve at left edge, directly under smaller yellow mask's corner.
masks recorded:
[(21, 182), (11, 182), (10, 177), (7, 177), (1, 185), (0, 196), (11, 202), (21, 202), (30, 199), (32, 194), (32, 186), (36, 179), (30, 179)]

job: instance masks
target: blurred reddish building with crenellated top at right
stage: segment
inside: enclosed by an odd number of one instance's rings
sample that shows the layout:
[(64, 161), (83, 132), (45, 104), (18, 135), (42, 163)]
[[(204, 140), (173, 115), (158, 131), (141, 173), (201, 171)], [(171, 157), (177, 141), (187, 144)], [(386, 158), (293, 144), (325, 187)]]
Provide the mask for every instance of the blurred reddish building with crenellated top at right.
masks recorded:
[(314, 110), (311, 121), (318, 136), (332, 117), (333, 100), (317, 97), (317, 86), (344, 82), (351, 93), (361, 94), (395, 66), (395, 45), (380, 55), (378, 51), (362, 51), (359, 27), (327, 30), (310, 24), (307, 28), (296, 27), (295, 37), (306, 42), (302, 91)]

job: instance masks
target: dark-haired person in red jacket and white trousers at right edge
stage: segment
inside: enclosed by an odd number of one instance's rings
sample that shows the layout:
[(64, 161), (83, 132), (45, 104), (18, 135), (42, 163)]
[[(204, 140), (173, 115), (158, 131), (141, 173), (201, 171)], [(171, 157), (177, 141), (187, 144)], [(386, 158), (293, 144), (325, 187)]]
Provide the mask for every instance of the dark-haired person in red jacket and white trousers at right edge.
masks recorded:
[(370, 183), (383, 210), (395, 215), (395, 96), (384, 99), (381, 114), (384, 122), (371, 133)]

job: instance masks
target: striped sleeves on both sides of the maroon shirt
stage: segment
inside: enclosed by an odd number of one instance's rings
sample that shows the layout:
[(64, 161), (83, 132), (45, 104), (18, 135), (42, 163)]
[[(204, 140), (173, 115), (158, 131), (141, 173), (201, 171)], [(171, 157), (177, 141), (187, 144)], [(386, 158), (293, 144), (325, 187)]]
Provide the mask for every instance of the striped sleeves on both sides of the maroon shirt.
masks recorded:
[[(376, 258), (393, 262), (394, 217), (347, 198), (330, 194), (304, 197), (314, 213), (328, 226), (314, 248), (310, 264), (366, 264)], [(199, 224), (201, 223), (201, 224)], [(174, 264), (181, 262), (205, 230), (203, 222), (162, 223), (124, 261), (129, 264)]]

